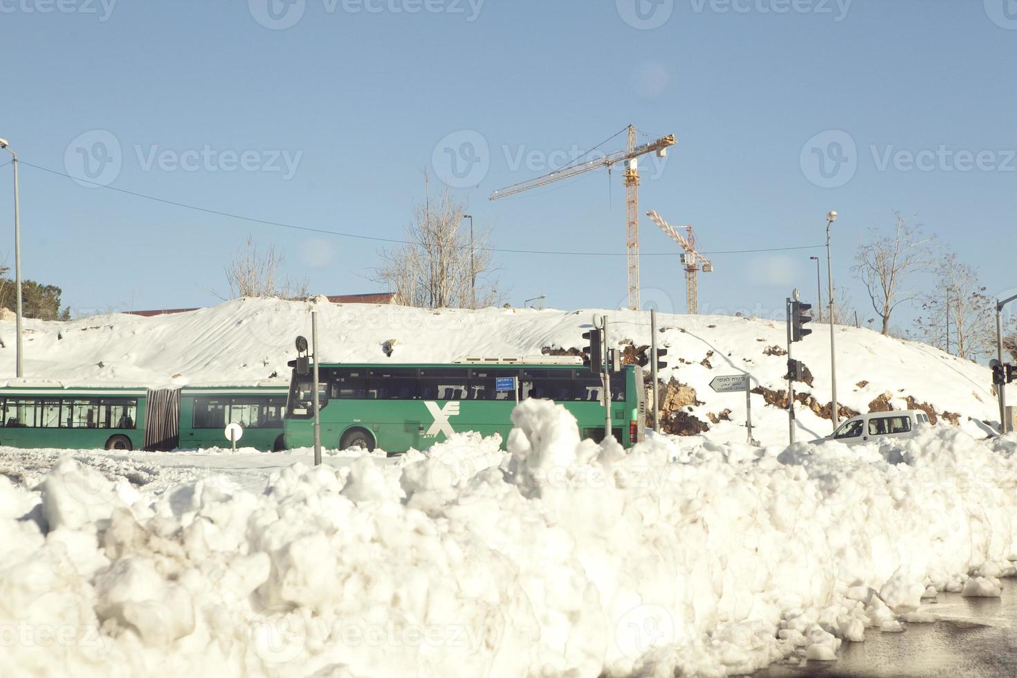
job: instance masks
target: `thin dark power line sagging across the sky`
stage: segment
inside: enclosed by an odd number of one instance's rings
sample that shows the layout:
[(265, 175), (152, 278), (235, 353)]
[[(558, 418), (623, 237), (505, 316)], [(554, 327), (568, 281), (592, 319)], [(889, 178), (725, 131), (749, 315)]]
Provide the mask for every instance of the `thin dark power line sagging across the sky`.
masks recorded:
[[(243, 214), (234, 214), (228, 211), (221, 211), (219, 209), (210, 209), (208, 207), (199, 207), (197, 205), (188, 204), (186, 202), (180, 202), (177, 200), (169, 200), (167, 198), (161, 198), (155, 195), (147, 195), (145, 193), (137, 193), (135, 191), (129, 191), (124, 188), (117, 188), (115, 186), (107, 186), (106, 184), (100, 184), (95, 181), (89, 181), (87, 179), (82, 179), (80, 177), (74, 177), (64, 172), (58, 172), (57, 170), (51, 170), (47, 167), (42, 167), (40, 165), (34, 165), (27, 163), (23, 160), (18, 161), (21, 165), (31, 167), (36, 170), (42, 170), (43, 172), (48, 172), (50, 174), (55, 174), (60, 177), (67, 177), (68, 179), (73, 179), (74, 181), (83, 181), (93, 186), (99, 186), (100, 188), (107, 188), (111, 191), (116, 191), (117, 193), (123, 193), (124, 195), (130, 195), (137, 198), (144, 198), (145, 200), (154, 200), (156, 202), (162, 202), (163, 204), (173, 205), (175, 207), (182, 207), (184, 209), (192, 209), (194, 211), (204, 212), (206, 214), (215, 214), (216, 217), (225, 217), (227, 219), (235, 219), (242, 222), (249, 222), (251, 224), (259, 224), (261, 226), (276, 226), (283, 229), (291, 229), (294, 231), (303, 231), (305, 233), (316, 233), (319, 235), (337, 236), (340, 238), (352, 238), (354, 240), (367, 240), (370, 242), (377, 243), (387, 243), (391, 245), (417, 245), (420, 247), (427, 247), (430, 243), (418, 241), (418, 240), (401, 240), (398, 238), (379, 238), (377, 236), (365, 236), (357, 233), (346, 233), (343, 231), (330, 231), (327, 229), (315, 229), (309, 226), (299, 226), (297, 224), (287, 224), (285, 222), (273, 222), (264, 219), (257, 219), (254, 217), (244, 217)], [(469, 245), (453, 245), (444, 244), (442, 247), (447, 247), (450, 249), (470, 249)], [(763, 249), (742, 249), (742, 250), (726, 250), (726, 251), (715, 251), (715, 252), (703, 252), (703, 254), (710, 255), (723, 255), (723, 254), (752, 254), (757, 252), (782, 252), (789, 250), (804, 250), (804, 249), (819, 249), (825, 247), (825, 245), (799, 245), (793, 247), (768, 247)], [(498, 252), (502, 254), (539, 254), (543, 256), (626, 256), (625, 252), (576, 252), (576, 251), (563, 251), (563, 250), (533, 250), (533, 249), (514, 249), (504, 247), (476, 247), (475, 251), (478, 252)], [(640, 256), (674, 256), (673, 252), (643, 252)]]

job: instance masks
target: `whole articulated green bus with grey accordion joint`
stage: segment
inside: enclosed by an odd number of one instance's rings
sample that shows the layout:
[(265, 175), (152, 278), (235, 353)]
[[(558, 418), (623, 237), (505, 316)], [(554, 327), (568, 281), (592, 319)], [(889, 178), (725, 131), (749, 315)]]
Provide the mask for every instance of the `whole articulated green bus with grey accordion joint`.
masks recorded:
[(224, 429), (243, 428), (239, 446), (283, 446), (285, 384), (183, 388), (0, 387), (0, 445), (60, 449), (228, 447)]

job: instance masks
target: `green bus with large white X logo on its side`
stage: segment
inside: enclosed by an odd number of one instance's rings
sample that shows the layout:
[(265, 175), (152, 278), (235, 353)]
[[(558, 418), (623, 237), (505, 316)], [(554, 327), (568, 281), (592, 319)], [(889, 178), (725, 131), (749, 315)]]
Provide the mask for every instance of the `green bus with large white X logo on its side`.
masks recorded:
[[(286, 448), (313, 444), (313, 380), (290, 383)], [(603, 385), (579, 358), (463, 359), (446, 365), (322, 364), (318, 367), (321, 444), (330, 449), (375, 447), (386, 452), (424, 449), (454, 433), (501, 435), (512, 430), (516, 394), (496, 388), (516, 377), (520, 398), (563, 405), (584, 438), (604, 437)], [(643, 369), (625, 365), (611, 375), (611, 429), (625, 447), (643, 439), (646, 402)]]

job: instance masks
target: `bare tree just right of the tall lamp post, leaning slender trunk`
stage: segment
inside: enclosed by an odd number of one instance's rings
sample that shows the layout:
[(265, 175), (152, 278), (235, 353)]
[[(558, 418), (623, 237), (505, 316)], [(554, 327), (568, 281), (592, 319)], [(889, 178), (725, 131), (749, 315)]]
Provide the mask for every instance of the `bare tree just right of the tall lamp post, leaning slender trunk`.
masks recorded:
[(905, 302), (914, 301), (916, 292), (906, 289), (908, 275), (930, 265), (932, 238), (921, 234), (921, 225), (908, 224), (897, 215), (897, 226), (889, 234), (870, 229), (871, 242), (858, 246), (854, 274), (861, 279), (873, 302), (873, 309), (883, 321), (883, 333), (890, 333), (890, 316)]

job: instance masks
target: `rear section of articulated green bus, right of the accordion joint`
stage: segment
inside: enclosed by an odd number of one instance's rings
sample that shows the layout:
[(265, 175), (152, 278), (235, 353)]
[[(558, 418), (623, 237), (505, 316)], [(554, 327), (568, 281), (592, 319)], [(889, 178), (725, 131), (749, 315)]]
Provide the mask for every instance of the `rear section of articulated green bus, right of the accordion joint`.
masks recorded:
[(264, 451), (283, 449), (283, 416), (286, 413), (285, 385), (213, 387), (184, 386), (180, 389), (178, 446), (228, 447), (224, 430), (239, 424), (243, 434), (238, 447)]

